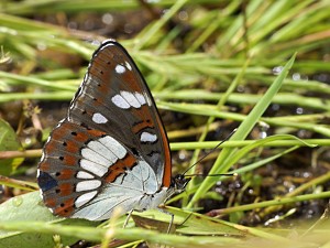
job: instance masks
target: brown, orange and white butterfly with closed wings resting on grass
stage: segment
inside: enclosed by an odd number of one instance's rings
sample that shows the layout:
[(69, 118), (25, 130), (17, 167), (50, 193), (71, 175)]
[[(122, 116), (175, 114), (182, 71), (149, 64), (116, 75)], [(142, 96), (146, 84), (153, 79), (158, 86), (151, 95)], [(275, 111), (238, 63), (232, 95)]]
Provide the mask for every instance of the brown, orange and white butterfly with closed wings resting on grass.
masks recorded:
[(119, 43), (106, 41), (44, 147), (37, 183), (45, 205), (101, 220), (117, 207), (157, 208), (188, 182), (172, 177), (166, 132), (140, 71)]

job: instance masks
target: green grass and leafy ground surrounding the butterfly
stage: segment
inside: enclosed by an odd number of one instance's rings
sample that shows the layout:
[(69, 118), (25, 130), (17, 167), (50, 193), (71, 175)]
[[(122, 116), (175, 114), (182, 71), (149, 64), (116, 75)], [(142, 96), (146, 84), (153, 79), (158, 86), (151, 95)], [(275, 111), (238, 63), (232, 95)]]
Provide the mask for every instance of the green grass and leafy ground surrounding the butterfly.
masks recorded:
[[(330, 247), (329, 20), (328, 0), (2, 0), (0, 247)], [(42, 145), (109, 37), (148, 83), (174, 174), (238, 128), (168, 202), (173, 234), (157, 212), (125, 229), (57, 218), (36, 192)]]

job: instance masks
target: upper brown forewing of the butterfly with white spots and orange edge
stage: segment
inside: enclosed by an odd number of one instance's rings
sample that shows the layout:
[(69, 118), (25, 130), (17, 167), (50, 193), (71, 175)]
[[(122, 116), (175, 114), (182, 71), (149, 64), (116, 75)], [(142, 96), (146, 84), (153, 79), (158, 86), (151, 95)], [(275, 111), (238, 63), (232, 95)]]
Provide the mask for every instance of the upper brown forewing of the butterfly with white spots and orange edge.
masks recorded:
[(140, 71), (117, 42), (107, 41), (95, 52), (68, 120), (110, 134), (145, 160), (160, 184), (169, 186), (166, 132)]

